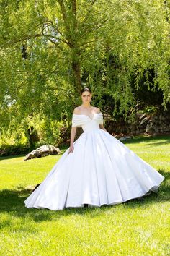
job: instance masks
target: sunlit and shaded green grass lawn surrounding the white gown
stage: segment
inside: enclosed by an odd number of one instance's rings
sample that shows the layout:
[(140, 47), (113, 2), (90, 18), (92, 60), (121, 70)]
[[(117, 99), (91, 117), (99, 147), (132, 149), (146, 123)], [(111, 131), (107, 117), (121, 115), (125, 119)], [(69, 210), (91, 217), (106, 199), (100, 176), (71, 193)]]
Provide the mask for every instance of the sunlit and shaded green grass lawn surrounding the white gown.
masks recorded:
[(0, 255), (169, 255), (170, 137), (125, 144), (165, 176), (158, 194), (101, 208), (27, 209), (61, 155), (0, 158)]

